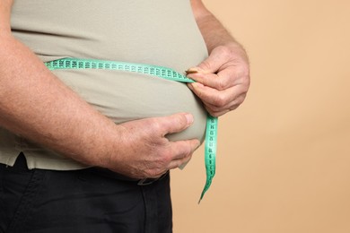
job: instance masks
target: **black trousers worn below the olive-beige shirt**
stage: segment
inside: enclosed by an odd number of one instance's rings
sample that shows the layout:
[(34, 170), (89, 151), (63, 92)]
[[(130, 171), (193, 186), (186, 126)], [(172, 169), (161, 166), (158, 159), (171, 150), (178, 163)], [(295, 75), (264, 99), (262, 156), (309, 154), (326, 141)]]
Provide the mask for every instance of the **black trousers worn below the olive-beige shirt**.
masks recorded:
[(146, 186), (86, 168), (31, 169), (21, 154), (0, 164), (0, 232), (172, 232), (169, 174)]

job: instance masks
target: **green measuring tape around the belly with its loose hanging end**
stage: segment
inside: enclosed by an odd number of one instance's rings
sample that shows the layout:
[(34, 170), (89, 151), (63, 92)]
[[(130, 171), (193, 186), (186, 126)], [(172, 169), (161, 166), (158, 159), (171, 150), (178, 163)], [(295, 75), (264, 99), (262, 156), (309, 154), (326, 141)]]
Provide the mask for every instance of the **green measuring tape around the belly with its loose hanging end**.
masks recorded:
[[(177, 82), (195, 82), (185, 75), (178, 73), (171, 68), (158, 65), (145, 65), (126, 62), (104, 61), (81, 58), (62, 58), (45, 63), (49, 70), (66, 69), (102, 69), (118, 70), (133, 73), (143, 73), (157, 76), (163, 79)], [(217, 142), (217, 117), (208, 114), (206, 118), (206, 143), (205, 143), (205, 162), (206, 162), (206, 185), (200, 195), (199, 202), (212, 184), (215, 176), (215, 157)]]

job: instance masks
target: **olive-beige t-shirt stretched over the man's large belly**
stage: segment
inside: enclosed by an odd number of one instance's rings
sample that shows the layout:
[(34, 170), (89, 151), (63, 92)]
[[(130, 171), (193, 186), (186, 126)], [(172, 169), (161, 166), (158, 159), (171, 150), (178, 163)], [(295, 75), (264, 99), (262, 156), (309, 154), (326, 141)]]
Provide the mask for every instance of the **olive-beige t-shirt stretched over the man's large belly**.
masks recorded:
[[(16, 0), (11, 23), (13, 35), (43, 62), (80, 57), (162, 65), (184, 73), (207, 56), (189, 0)], [(120, 71), (54, 73), (116, 124), (189, 112), (194, 125), (170, 139), (204, 140), (206, 111), (184, 83)], [(21, 151), (29, 168), (86, 168), (0, 128), (0, 163), (13, 166)]]

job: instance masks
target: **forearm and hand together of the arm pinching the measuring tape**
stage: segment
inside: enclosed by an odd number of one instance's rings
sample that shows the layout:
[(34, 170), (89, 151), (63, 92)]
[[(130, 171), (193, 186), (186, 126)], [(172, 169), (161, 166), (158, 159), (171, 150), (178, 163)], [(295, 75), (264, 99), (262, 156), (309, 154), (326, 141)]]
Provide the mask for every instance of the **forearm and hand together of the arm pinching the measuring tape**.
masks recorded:
[(210, 13), (201, 0), (191, 0), (197, 25), (209, 56), (188, 76), (188, 87), (201, 99), (212, 116), (238, 108), (249, 89), (249, 59), (244, 48)]

